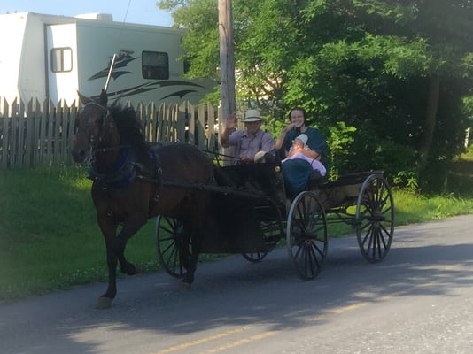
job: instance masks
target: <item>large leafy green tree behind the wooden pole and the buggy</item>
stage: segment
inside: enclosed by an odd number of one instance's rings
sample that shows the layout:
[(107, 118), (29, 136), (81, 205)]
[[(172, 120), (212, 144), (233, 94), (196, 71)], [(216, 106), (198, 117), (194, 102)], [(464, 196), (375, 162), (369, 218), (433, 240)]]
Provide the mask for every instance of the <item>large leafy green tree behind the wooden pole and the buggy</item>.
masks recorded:
[[(233, 2), (240, 101), (276, 119), (302, 105), (331, 140), (338, 122), (356, 127), (341, 172), (381, 168), (421, 183), (446, 173), (471, 124), (471, 0)], [(159, 4), (190, 28), (193, 73), (217, 65), (215, 0)]]

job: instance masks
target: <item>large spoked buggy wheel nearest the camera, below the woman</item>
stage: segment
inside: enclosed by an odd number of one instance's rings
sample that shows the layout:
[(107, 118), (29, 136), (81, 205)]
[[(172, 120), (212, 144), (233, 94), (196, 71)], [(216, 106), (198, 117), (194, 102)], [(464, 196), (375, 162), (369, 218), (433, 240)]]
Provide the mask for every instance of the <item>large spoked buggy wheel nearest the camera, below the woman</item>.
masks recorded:
[(286, 242), (299, 277), (308, 281), (320, 273), (327, 256), (327, 218), (313, 192), (299, 193), (289, 210)]

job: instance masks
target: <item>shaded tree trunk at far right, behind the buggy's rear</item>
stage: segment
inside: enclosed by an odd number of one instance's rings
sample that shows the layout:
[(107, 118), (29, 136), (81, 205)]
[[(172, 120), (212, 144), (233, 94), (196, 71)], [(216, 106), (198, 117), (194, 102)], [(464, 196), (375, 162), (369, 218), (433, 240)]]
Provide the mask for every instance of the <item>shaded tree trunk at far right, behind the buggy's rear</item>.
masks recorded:
[(429, 96), (427, 100), (427, 112), (423, 124), (423, 135), (419, 144), (419, 159), (417, 163), (417, 175), (421, 176), (427, 165), (430, 145), (437, 123), (438, 97), (440, 95), (440, 78), (431, 77), (429, 84)]

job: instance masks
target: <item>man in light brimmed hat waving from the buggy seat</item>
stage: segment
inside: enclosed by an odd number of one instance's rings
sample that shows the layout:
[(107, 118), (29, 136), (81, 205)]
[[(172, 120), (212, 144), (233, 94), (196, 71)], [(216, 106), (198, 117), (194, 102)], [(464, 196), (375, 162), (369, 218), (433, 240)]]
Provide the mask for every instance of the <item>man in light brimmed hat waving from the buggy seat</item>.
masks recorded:
[(275, 140), (269, 133), (261, 130), (263, 119), (260, 111), (248, 110), (244, 113), (244, 130), (236, 130), (236, 117), (231, 115), (225, 123), (220, 142), (224, 148), (235, 147), (236, 163), (255, 162), (254, 156), (259, 151), (275, 154)]

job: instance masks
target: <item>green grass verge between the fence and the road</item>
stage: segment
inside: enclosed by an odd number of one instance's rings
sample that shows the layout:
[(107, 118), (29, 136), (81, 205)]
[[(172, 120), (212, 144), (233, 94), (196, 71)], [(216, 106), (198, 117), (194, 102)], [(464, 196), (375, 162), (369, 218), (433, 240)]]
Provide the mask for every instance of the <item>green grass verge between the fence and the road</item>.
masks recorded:
[[(106, 281), (90, 186), (80, 167), (0, 171), (0, 300)], [(473, 190), (462, 197), (393, 194), (398, 226), (473, 213)], [(351, 232), (330, 226), (332, 237)], [(128, 242), (128, 258), (144, 272), (159, 269), (154, 237), (151, 220)]]

